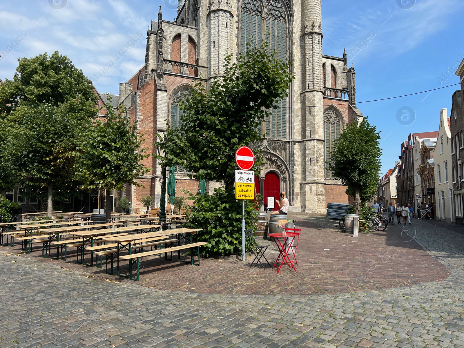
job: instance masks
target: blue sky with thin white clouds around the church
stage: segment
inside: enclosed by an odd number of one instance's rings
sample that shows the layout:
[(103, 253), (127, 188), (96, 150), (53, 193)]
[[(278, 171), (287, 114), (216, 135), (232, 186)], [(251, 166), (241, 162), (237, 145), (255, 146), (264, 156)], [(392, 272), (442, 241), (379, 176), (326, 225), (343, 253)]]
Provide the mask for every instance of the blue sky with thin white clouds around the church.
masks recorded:
[[(0, 78), (13, 76), (19, 57), (58, 50), (98, 91), (117, 93), (118, 83), (144, 63), (146, 30), (160, 5), (163, 19), (173, 20), (174, 0), (2, 0)], [(347, 52), (362, 47), (348, 62), (356, 70), (357, 102), (459, 82), (454, 71), (464, 58), (464, 1), (322, 0), (322, 13), (324, 54), (342, 56), (345, 47)], [(363, 42), (369, 35), (372, 39)], [(128, 43), (125, 56), (95, 78)], [(14, 50), (2, 54), (9, 45)], [(357, 105), (381, 131), (382, 173), (393, 168), (409, 133), (438, 130), (440, 110), (447, 108), (449, 116), (457, 89)], [(405, 107), (411, 114), (399, 122), (397, 113)]]

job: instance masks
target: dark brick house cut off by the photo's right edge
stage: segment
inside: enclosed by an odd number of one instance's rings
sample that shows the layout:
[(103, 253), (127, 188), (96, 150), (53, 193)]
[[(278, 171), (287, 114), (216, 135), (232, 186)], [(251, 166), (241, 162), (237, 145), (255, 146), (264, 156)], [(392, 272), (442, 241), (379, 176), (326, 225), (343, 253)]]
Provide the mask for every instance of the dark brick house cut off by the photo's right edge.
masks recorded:
[(454, 223), (464, 225), (463, 206), (464, 206), (464, 188), (462, 181), (463, 168), (461, 157), (464, 155), (464, 110), (462, 95), (464, 93), (464, 59), (455, 73), (460, 77), (460, 89), (452, 95), (450, 131), (451, 131), (451, 163), (452, 163), (452, 200), (454, 202)]

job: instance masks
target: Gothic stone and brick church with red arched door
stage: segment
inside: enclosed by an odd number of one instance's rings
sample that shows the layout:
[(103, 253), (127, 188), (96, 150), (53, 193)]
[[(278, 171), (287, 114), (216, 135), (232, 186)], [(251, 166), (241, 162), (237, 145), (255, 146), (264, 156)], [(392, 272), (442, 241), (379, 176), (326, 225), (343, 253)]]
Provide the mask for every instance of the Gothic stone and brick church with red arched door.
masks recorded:
[[(209, 84), (223, 73), (223, 58), (243, 53), (247, 42), (269, 42), (277, 58), (292, 62), (296, 80), (289, 97), (279, 101), (263, 122), (264, 166), (258, 174), (258, 193), (278, 197), (285, 191), (290, 210), (325, 213), (327, 203), (348, 203), (341, 182), (325, 170), (332, 142), (347, 123), (362, 117), (356, 108), (354, 68), (347, 55), (322, 54), (322, 0), (179, 0), (174, 22), (153, 20), (147, 32), (145, 65), (120, 84), (120, 102), (148, 140), (166, 131), (167, 122), (180, 122), (178, 101), (192, 84)], [(144, 188), (127, 187), (132, 206), (140, 197), (159, 202), (161, 168), (147, 160), (152, 173), (140, 178)], [(176, 168), (177, 192), (196, 192), (198, 182), (188, 169)], [(259, 185), (258, 185), (259, 183)], [(211, 191), (220, 183), (207, 183)]]

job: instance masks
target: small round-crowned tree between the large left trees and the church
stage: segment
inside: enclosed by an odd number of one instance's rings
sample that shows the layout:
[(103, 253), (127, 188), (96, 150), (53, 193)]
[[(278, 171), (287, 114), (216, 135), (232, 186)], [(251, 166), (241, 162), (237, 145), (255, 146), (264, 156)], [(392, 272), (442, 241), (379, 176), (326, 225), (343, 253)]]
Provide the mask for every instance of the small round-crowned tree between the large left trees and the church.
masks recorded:
[[(130, 124), (125, 108), (108, 108), (106, 118), (97, 119), (83, 134), (77, 147), (74, 166), (76, 179), (86, 189), (103, 188), (106, 197), (111, 190), (122, 190), (125, 184), (138, 187), (136, 179), (151, 171), (142, 160), (148, 158), (142, 148), (142, 136), (137, 123)], [(105, 200), (106, 219), (111, 219), (111, 202)]]

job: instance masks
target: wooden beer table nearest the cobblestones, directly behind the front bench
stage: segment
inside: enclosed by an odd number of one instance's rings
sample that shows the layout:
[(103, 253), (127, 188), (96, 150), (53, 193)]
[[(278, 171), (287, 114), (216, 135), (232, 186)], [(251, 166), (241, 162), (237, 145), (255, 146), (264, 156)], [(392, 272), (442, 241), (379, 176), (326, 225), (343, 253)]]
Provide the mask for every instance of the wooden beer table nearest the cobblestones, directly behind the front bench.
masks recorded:
[[(144, 225), (144, 226), (154, 226), (154, 225)], [(201, 229), (192, 229), (192, 228), (174, 228), (172, 230), (164, 230), (164, 231), (159, 231), (159, 232), (147, 232), (147, 233), (141, 233), (141, 234), (132, 234), (132, 235), (126, 235), (126, 236), (117, 236), (117, 237), (111, 237), (108, 236), (107, 238), (103, 238), (103, 241), (106, 242), (116, 242), (117, 243), (117, 251), (116, 251), (116, 258), (117, 258), (117, 275), (118, 277), (126, 277), (124, 275), (119, 274), (119, 253), (122, 252), (123, 250), (126, 250), (129, 252), (129, 255), (132, 254), (132, 248), (133, 244), (135, 243), (142, 243), (144, 240), (151, 239), (151, 238), (157, 238), (157, 237), (166, 237), (166, 236), (172, 236), (176, 235), (177, 243), (178, 246), (180, 246), (180, 242), (182, 240), (186, 240), (187, 244), (192, 244), (192, 234), (198, 231), (202, 231)], [(182, 234), (187, 233), (190, 238), (187, 239)], [(180, 261), (180, 249), (178, 251), (178, 257), (179, 257), (179, 262), (184, 262)], [(199, 255), (200, 258), (200, 255)], [(192, 262), (193, 264), (193, 254), (192, 254)], [(129, 279), (132, 279), (132, 263), (131, 260), (129, 260)], [(138, 280), (139, 277), (139, 260), (137, 259), (137, 277), (136, 280)]]

